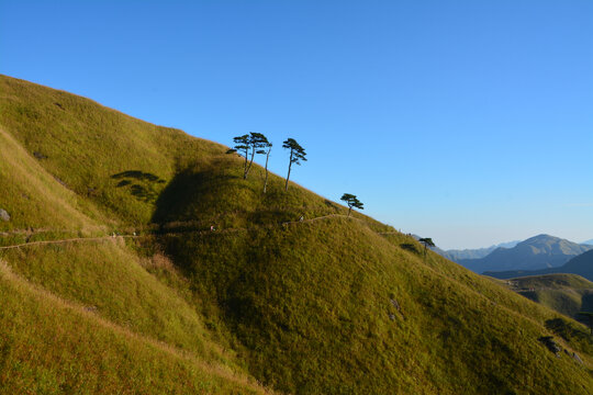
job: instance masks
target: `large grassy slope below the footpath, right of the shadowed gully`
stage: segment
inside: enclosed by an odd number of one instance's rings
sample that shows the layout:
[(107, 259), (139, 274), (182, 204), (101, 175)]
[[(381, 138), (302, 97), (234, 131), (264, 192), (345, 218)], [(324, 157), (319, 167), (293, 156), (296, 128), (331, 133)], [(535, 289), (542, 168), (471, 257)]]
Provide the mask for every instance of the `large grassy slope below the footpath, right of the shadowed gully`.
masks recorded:
[[(586, 369), (538, 342), (555, 314), (477, 275), (469, 274), (470, 283), (455, 279), (359, 222), (169, 236), (166, 245), (203, 297), (220, 306), (253, 374), (281, 391), (592, 388)], [(573, 346), (591, 352), (591, 343)]]

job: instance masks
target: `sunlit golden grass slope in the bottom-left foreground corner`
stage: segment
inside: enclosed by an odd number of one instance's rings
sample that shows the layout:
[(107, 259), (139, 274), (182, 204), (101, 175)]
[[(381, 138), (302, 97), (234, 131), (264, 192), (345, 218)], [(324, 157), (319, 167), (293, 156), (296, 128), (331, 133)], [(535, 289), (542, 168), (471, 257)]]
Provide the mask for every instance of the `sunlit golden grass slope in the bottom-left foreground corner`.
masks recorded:
[(0, 394), (265, 393), (34, 286), (1, 261), (0, 295)]

